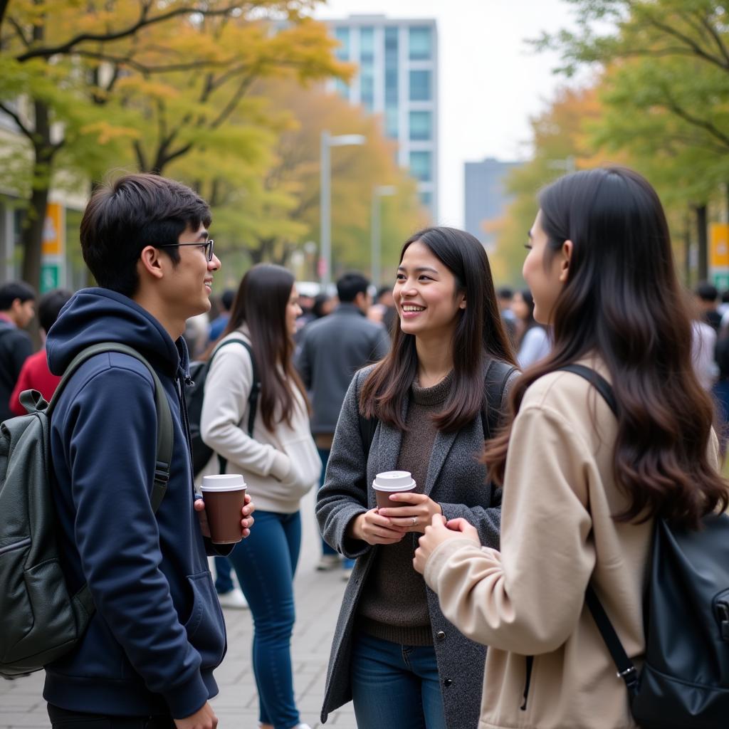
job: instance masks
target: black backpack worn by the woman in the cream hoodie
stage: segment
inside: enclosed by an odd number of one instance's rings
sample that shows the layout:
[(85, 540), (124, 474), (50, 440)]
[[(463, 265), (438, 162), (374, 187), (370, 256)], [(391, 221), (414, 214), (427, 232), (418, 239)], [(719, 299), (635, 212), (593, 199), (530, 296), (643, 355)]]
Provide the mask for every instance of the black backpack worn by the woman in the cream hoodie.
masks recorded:
[[(208, 461), (213, 455), (213, 449), (203, 442), (200, 435), (200, 420), (203, 417), (203, 399), (205, 399), (205, 381), (210, 372), (210, 365), (213, 357), (226, 344), (242, 344), (251, 356), (251, 364), (253, 366), (253, 386), (251, 394), (248, 396), (248, 434), (253, 437), (253, 424), (256, 419), (256, 410), (258, 408), (258, 397), (261, 391), (261, 381), (258, 378), (258, 370), (256, 360), (253, 356), (253, 350), (246, 340), (243, 339), (226, 339), (214, 348), (210, 359), (207, 362), (192, 362), (190, 364), (190, 381), (185, 385), (184, 395), (187, 401), (187, 419), (190, 423), (190, 445), (192, 448), (192, 472), (195, 476), (206, 467)], [(220, 459), (220, 472), (225, 472), (225, 459)]]

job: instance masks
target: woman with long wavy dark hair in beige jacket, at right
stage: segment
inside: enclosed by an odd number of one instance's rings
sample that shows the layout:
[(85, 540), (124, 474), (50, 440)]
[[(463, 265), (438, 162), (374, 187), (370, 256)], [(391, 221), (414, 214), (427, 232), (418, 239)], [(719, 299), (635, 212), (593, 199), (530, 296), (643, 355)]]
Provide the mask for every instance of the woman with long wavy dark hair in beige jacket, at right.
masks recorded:
[[(481, 729), (627, 729), (628, 691), (585, 589), (640, 663), (656, 516), (695, 527), (728, 492), (658, 195), (633, 171), (595, 169), (551, 184), (539, 208), (523, 275), (554, 343), (486, 447), (503, 483), (501, 550), (464, 521), (434, 521), (415, 564), (446, 617), (489, 646)], [(612, 383), (617, 419), (590, 382), (558, 371), (572, 364)]]

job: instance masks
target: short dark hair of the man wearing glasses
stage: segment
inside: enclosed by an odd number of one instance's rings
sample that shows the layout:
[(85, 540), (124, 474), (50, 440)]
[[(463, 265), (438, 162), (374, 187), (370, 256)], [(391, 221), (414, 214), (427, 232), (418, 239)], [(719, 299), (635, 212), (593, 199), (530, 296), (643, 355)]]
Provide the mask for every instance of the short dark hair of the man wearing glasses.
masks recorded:
[[(136, 263), (145, 246), (177, 243), (184, 230), (210, 222), (208, 203), (184, 184), (159, 175), (125, 175), (91, 196), (81, 221), (81, 249), (99, 286), (131, 296), (139, 286)], [(178, 249), (163, 250), (179, 262)]]

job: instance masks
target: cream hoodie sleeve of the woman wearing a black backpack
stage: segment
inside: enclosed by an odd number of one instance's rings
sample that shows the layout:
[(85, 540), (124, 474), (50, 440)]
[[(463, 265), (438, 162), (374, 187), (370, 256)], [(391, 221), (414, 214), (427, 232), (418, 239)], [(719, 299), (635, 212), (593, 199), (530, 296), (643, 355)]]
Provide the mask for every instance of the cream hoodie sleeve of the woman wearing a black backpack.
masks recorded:
[(246, 348), (239, 344), (222, 348), (205, 382), (200, 435), (216, 453), (246, 471), (284, 480), (291, 469), (289, 456), (246, 431), (243, 418), (247, 421), (252, 386), (253, 368)]

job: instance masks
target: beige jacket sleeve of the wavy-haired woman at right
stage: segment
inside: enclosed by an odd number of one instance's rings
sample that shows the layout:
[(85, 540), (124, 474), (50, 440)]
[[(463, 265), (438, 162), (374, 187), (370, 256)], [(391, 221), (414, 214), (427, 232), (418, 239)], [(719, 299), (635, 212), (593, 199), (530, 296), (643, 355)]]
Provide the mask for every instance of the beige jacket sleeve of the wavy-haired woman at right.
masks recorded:
[(453, 539), (426, 564), (443, 614), (465, 636), (522, 655), (565, 642), (595, 563), (585, 507), (595, 469), (564, 416), (542, 405), (521, 410), (504, 478), (502, 551)]

